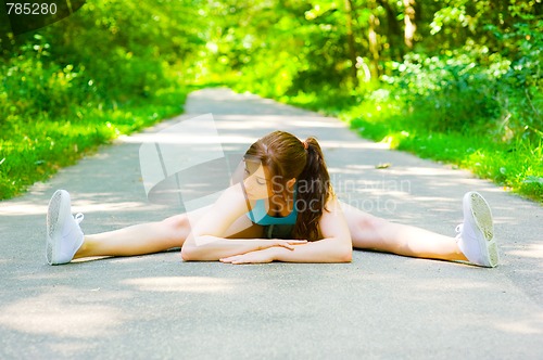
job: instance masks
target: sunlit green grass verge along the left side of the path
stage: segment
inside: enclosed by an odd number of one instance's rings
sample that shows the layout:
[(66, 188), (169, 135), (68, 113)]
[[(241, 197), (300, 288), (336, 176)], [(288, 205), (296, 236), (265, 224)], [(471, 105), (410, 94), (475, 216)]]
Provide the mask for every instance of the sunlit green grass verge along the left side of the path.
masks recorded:
[(168, 89), (152, 99), (126, 101), (112, 108), (79, 106), (62, 118), (42, 114), (31, 121), (0, 125), (0, 200), (22, 194), (121, 134), (182, 113), (191, 90)]

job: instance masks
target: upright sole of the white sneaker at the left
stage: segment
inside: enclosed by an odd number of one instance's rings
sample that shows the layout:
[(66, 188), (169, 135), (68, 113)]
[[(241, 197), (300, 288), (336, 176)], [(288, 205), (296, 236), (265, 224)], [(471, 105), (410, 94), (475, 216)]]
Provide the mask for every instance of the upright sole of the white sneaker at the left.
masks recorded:
[[(67, 200), (67, 202), (66, 202)], [(56, 265), (55, 254), (56, 241), (62, 229), (61, 214), (66, 210), (66, 205), (70, 207), (70, 194), (64, 190), (56, 190), (49, 201), (47, 211), (47, 242), (46, 242), (46, 259), (49, 265)], [(70, 211), (70, 208), (67, 209)]]

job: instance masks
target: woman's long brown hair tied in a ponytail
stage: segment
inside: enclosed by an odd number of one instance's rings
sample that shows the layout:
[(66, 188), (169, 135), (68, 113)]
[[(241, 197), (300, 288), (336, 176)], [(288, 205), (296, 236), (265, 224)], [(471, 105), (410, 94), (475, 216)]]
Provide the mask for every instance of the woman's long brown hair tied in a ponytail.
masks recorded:
[(318, 240), (318, 220), (332, 190), (317, 140), (307, 138), (302, 142), (289, 132), (274, 131), (253, 143), (244, 158), (258, 160), (267, 169), (276, 194), (287, 190), (287, 181), (296, 179), (298, 219), (292, 236)]

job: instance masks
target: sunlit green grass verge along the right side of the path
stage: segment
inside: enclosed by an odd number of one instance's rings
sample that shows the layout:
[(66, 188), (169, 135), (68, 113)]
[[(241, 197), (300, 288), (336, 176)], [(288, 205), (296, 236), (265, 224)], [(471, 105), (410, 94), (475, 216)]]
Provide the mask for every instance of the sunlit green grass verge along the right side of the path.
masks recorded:
[(393, 104), (303, 93), (278, 100), (339, 117), (363, 138), (468, 169), (543, 204), (543, 133), (539, 130), (535, 130), (539, 141), (527, 139), (505, 144), (477, 128), (464, 132), (431, 131), (424, 126), (428, 124), (421, 118), (425, 114), (405, 113)]

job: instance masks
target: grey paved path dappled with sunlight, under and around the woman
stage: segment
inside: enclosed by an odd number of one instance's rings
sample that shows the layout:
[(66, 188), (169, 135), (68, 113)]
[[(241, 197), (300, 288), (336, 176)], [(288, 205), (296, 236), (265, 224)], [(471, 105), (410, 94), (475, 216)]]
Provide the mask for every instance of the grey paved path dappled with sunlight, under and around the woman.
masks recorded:
[[(366, 142), (340, 121), (224, 89), (189, 97), (187, 114), (124, 138), (0, 203), (0, 358), (543, 357), (543, 209), (469, 173)], [(87, 233), (178, 211), (151, 205), (138, 150), (153, 132), (212, 113), (224, 149), (283, 129), (320, 139), (343, 201), (454, 235), (460, 198), (491, 204), (502, 265), (355, 252), (352, 263), (231, 266), (178, 252), (45, 263), (47, 202), (72, 193)], [(376, 169), (391, 163), (388, 169)]]

